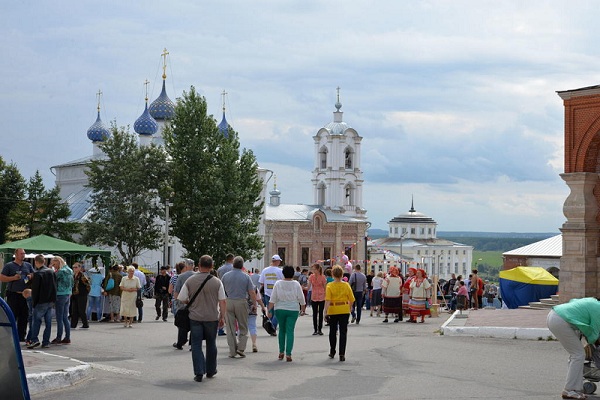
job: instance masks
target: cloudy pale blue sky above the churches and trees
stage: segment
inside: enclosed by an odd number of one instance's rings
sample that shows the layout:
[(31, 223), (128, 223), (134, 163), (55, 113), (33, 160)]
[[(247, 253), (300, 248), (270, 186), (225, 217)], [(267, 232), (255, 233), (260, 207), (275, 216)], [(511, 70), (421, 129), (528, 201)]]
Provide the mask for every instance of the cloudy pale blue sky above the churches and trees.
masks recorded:
[[(26, 179), (92, 154), (101, 118), (131, 126), (191, 86), (275, 172), (284, 203), (313, 203), (313, 136), (362, 137), (363, 207), (387, 229), (414, 207), (439, 231), (556, 232), (569, 193), (556, 91), (600, 81), (593, 1), (0, 3), (0, 157)], [(271, 182), (269, 183), (271, 185)], [(269, 187), (271, 190), (271, 187)]]

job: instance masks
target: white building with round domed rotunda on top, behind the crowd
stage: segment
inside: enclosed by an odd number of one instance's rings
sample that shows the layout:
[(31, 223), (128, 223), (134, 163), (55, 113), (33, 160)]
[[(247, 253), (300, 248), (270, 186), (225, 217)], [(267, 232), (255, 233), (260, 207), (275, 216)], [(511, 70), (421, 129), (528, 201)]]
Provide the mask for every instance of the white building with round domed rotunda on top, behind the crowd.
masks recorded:
[(369, 255), (375, 271), (396, 266), (405, 274), (409, 267), (423, 268), (428, 275), (447, 278), (451, 274), (468, 276), (473, 247), (437, 238), (437, 222), (410, 210), (388, 222), (388, 237), (369, 243)]

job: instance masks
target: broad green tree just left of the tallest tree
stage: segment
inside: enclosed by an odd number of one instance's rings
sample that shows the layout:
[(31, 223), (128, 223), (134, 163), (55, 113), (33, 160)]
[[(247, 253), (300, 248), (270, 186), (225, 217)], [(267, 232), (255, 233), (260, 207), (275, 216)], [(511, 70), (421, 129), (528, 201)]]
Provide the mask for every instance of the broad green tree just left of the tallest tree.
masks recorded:
[(162, 148), (138, 146), (128, 129), (111, 127), (112, 137), (100, 145), (105, 157), (91, 161), (86, 174), (92, 188), (91, 212), (83, 241), (115, 246), (129, 264), (143, 250), (162, 243), (167, 161)]

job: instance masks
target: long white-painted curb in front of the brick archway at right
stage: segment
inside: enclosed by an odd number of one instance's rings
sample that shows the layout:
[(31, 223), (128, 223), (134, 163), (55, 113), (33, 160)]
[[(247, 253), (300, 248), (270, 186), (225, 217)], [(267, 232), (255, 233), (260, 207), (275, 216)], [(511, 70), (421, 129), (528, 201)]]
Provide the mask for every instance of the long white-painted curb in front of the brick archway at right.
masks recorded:
[(454, 321), (455, 315), (456, 313), (452, 314), (452, 316), (442, 325), (441, 330), (444, 335), (526, 340), (539, 340), (540, 338), (544, 340), (548, 338), (556, 339), (548, 328), (451, 326), (450, 324)]

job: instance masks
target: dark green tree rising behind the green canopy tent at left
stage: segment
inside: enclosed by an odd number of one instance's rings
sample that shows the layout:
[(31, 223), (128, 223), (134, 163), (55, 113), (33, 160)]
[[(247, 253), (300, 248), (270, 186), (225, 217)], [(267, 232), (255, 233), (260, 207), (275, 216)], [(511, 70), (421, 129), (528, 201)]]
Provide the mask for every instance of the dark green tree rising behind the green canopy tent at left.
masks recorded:
[(11, 213), (11, 220), (14, 221), (11, 226), (12, 239), (19, 239), (24, 228), (25, 237), (44, 234), (72, 240), (79, 230), (79, 224), (68, 221), (71, 210), (61, 201), (58, 186), (46, 190), (40, 172), (36, 171), (25, 186), (25, 191), (27, 197)]

